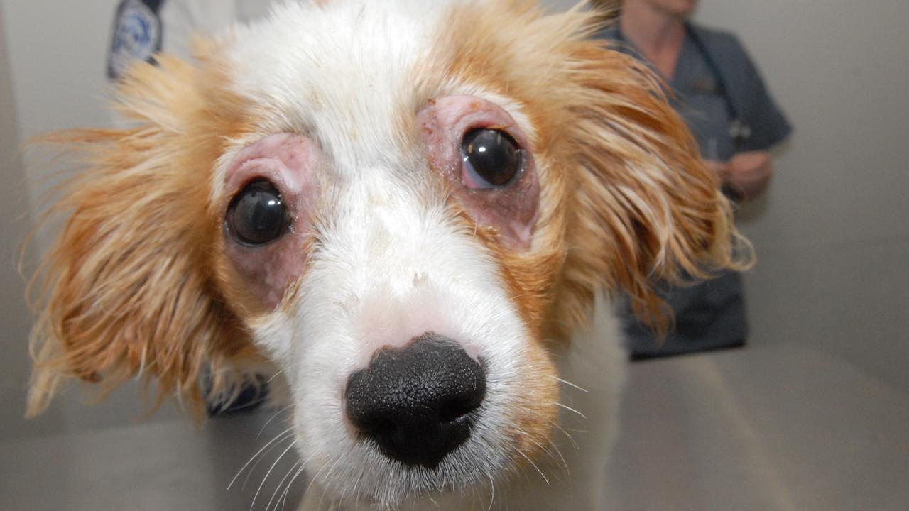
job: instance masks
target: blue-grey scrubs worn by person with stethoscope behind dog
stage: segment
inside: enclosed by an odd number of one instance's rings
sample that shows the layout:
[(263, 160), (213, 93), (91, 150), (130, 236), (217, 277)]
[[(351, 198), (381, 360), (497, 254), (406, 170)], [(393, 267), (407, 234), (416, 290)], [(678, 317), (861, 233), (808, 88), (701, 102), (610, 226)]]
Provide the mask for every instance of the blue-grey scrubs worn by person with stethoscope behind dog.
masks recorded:
[[(641, 58), (617, 25), (607, 27), (599, 36), (619, 42), (621, 51)], [(735, 153), (767, 150), (784, 140), (792, 129), (734, 35), (689, 25), (674, 75), (667, 82), (674, 95), (670, 101), (684, 117), (704, 158), (727, 161)], [(748, 126), (747, 138), (734, 140), (730, 135), (733, 113)], [(692, 286), (660, 287), (661, 296), (672, 306), (675, 316), (674, 329), (664, 340), (657, 339), (637, 321), (627, 303), (620, 306), (632, 357), (744, 343), (747, 324), (739, 274), (726, 272)]]

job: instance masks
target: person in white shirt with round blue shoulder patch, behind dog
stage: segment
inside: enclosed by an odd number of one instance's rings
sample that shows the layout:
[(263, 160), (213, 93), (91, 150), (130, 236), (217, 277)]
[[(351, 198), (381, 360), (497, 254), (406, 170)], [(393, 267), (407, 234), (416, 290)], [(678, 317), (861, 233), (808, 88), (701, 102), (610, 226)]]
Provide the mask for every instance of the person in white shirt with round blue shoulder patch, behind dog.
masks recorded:
[[(268, 12), (272, 0), (122, 0), (116, 7), (111, 45), (107, 53), (107, 79), (123, 77), (136, 61), (155, 63), (165, 52), (192, 59), (195, 35), (215, 35), (236, 22), (246, 22)], [(123, 119), (115, 118), (115, 125)], [(211, 416), (252, 410), (265, 402), (268, 384), (261, 375), (249, 375), (231, 396), (207, 396)]]

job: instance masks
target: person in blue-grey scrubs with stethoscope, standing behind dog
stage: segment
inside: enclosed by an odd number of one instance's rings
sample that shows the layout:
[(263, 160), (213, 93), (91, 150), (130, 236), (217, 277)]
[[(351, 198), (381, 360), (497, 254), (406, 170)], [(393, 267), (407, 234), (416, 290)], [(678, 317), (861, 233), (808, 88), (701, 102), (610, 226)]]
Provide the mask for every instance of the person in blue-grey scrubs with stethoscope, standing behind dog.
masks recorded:
[[(792, 131), (757, 68), (734, 35), (689, 22), (697, 0), (594, 0), (617, 15), (597, 36), (643, 60), (669, 87), (706, 164), (734, 201), (764, 192), (769, 150)], [(742, 277), (725, 272), (691, 286), (661, 285), (674, 329), (661, 341), (622, 306), (633, 359), (742, 346), (747, 336)]]

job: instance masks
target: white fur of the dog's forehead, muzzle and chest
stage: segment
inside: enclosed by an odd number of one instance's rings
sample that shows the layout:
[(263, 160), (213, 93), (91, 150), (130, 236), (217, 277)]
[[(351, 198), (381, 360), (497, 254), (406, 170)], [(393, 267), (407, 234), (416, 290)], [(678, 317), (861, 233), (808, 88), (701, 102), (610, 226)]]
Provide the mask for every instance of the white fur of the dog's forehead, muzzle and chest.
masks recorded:
[[(608, 307), (599, 304), (592, 330), (556, 354), (562, 377), (587, 391), (564, 385), (563, 404), (586, 418), (562, 410), (558, 452), (538, 462), (542, 474), (528, 467), (525, 477), (508, 479), (504, 432), (532, 339), (494, 259), (453, 223), (445, 197), (420, 177), (425, 155), (395, 131), (401, 105), (414, 102), (414, 66), (445, 22), (445, 4), (288, 4), (236, 28), (230, 45), (235, 90), (268, 119), (258, 126), (261, 135), (305, 133), (331, 162), (323, 177), (327, 209), (316, 225), (320, 243), (295, 302), (254, 325), (255, 341), (291, 388), (297, 450), (315, 480), (304, 508), (365, 509), (376, 500), (413, 509), (595, 509), (624, 379)], [(534, 133), (514, 101), (474, 84), (440, 83), (446, 85), (434, 92), (484, 97)], [(217, 187), (228, 156), (248, 142), (235, 141), (216, 169), (215, 195), (223, 193)], [(427, 331), (457, 340), (487, 370), (472, 435), (435, 473), (405, 470), (357, 442), (343, 407), (347, 377), (376, 348)], [(437, 496), (414, 500), (418, 495)]]

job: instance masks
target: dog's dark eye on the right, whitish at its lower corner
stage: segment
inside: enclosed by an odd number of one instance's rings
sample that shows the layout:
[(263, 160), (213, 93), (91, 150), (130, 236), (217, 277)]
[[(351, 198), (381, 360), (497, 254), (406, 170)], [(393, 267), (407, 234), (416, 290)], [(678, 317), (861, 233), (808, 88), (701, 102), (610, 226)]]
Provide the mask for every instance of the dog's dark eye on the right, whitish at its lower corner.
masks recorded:
[(469, 188), (500, 188), (514, 181), (524, 168), (524, 150), (504, 131), (479, 128), (467, 132), (461, 142), (464, 185)]

